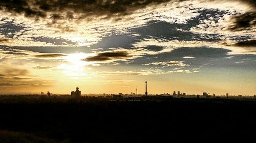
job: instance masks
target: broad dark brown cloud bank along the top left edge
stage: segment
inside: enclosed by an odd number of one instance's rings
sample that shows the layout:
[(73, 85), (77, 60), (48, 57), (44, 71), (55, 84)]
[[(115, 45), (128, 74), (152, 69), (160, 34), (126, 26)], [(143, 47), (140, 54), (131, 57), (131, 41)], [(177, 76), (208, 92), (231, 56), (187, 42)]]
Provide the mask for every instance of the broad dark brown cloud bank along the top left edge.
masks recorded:
[(73, 18), (72, 13), (76, 13), (80, 14), (78, 18), (81, 19), (91, 15), (124, 16), (136, 9), (168, 1), (170, 0), (2, 0), (0, 9), (34, 18), (46, 17), (50, 13), (53, 20)]

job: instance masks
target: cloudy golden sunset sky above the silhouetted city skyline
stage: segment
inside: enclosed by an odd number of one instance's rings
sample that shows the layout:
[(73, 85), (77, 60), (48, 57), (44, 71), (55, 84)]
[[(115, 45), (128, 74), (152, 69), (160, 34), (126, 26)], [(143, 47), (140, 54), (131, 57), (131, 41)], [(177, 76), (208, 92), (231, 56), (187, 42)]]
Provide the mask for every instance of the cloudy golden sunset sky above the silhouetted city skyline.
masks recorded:
[(0, 94), (255, 95), (253, 0), (1, 0)]

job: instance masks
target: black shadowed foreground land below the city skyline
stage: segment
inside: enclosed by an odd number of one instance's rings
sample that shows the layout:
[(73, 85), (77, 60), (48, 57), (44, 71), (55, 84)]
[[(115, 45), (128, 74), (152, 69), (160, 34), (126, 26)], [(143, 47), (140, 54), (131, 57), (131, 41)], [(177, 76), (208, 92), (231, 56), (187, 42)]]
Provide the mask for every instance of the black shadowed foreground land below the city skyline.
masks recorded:
[(227, 99), (1, 96), (0, 142), (253, 138), (255, 109), (255, 101)]

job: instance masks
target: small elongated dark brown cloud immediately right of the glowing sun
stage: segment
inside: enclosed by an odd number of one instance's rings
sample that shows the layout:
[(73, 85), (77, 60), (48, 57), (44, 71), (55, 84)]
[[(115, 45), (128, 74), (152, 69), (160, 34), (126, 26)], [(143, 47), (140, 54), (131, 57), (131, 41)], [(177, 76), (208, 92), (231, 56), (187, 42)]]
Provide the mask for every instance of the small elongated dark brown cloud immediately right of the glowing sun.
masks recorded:
[(114, 60), (114, 59), (124, 59), (129, 58), (132, 55), (129, 55), (126, 51), (114, 51), (114, 52), (101, 52), (98, 53), (95, 56), (89, 56), (86, 59), (83, 59), (84, 61), (108, 61), (108, 60)]

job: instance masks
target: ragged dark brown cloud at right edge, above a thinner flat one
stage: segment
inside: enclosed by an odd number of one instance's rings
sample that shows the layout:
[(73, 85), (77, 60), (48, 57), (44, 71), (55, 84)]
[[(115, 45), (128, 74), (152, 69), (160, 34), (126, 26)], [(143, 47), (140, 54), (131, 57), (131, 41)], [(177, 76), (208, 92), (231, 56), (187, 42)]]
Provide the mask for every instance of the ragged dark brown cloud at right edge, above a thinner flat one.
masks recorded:
[(249, 30), (253, 26), (256, 26), (256, 12), (247, 12), (233, 17), (234, 22), (229, 27), (231, 31)]

